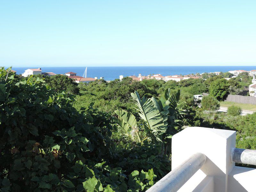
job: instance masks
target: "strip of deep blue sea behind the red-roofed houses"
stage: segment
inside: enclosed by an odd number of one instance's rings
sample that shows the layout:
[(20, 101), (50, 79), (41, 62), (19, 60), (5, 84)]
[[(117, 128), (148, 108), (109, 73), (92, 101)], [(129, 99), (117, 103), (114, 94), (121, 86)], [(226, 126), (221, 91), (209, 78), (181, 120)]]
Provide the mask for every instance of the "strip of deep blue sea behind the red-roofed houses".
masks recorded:
[[(38, 67), (29, 67), (38, 68)], [(17, 74), (23, 73), (28, 67), (13, 67)], [(191, 73), (204, 73), (222, 71), (227, 72), (230, 70), (253, 70), (256, 66), (161, 66), (161, 67), (88, 67), (87, 77), (104, 77), (105, 80), (114, 80), (123, 76), (138, 76), (149, 74), (168, 75), (187, 75)], [(43, 72), (53, 72), (56, 74), (64, 74), (67, 72), (75, 72), (78, 76), (83, 76), (85, 67), (42, 67)]]

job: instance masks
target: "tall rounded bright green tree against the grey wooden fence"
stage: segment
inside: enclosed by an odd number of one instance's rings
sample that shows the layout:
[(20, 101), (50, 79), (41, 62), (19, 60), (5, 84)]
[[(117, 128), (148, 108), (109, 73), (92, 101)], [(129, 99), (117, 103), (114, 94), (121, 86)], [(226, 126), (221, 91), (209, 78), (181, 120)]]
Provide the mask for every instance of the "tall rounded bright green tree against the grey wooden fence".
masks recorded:
[(228, 95), (228, 81), (224, 78), (217, 79), (210, 84), (209, 92), (210, 95), (215, 97), (217, 100), (224, 100)]

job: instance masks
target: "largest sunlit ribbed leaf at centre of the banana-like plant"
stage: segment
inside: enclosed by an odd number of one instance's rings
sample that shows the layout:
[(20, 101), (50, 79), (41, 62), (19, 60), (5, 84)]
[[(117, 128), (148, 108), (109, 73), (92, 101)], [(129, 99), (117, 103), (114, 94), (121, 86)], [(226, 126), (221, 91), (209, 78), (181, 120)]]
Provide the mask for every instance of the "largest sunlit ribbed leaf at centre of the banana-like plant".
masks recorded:
[(138, 107), (137, 110), (139, 111), (140, 117), (146, 121), (150, 132), (154, 133), (158, 140), (161, 140), (160, 135), (166, 131), (167, 122), (164, 121), (158, 107), (154, 104), (154, 102), (156, 103), (155, 98), (146, 100), (146, 98), (143, 97), (141, 100), (136, 91), (131, 93), (131, 95)]

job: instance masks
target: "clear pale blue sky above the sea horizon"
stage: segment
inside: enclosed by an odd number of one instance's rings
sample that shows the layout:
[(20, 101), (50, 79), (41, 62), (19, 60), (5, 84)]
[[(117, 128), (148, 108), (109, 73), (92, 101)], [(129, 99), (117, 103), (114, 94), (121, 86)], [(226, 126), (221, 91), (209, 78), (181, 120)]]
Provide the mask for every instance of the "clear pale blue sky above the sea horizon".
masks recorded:
[(10, 65), (256, 65), (256, 1), (0, 0)]

